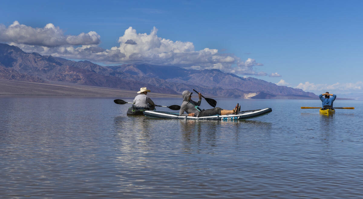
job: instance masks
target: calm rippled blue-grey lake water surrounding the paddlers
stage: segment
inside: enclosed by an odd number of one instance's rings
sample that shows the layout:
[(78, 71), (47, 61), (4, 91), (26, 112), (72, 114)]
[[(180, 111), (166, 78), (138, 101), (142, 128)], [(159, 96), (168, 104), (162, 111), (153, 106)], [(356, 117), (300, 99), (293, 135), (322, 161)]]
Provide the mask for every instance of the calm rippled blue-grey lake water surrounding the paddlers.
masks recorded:
[(1, 97), (0, 198), (362, 198), (362, 101), (325, 116), (300, 109), (319, 100), (217, 99), (273, 110), (222, 122), (128, 117), (113, 100)]

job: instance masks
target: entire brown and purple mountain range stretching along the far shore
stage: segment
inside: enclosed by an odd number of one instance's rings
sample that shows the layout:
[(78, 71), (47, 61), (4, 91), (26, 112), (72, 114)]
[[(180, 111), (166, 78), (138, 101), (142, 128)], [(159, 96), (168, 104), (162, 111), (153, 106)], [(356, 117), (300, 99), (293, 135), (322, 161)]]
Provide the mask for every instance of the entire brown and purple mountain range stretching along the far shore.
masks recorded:
[(316, 99), (314, 93), (243, 78), (217, 69), (193, 70), (175, 66), (123, 64), (101, 66), (90, 61), (26, 53), (0, 44), (0, 79), (26, 82), (68, 82), (124, 90), (147, 87), (152, 92), (178, 94), (197, 90), (208, 96), (255, 99)]

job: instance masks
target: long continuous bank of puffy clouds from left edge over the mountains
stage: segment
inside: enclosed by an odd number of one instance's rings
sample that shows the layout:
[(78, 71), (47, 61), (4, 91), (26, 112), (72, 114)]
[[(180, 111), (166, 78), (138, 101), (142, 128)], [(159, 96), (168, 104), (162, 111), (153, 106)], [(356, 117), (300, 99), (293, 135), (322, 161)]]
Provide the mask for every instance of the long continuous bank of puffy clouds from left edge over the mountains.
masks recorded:
[[(53, 24), (44, 28), (32, 28), (18, 21), (9, 27), (0, 24), (0, 42), (19, 46), (25, 52), (37, 52), (42, 55), (70, 59), (90, 60), (105, 64), (148, 63), (172, 65), (192, 69), (219, 69), (223, 72), (239, 75), (267, 76), (256, 71), (255, 66), (263, 66), (252, 58), (241, 58), (229, 53), (220, 53), (217, 49), (204, 48), (195, 50), (192, 42), (172, 41), (160, 38), (155, 27), (150, 34), (137, 33), (129, 27), (119, 37), (119, 46), (102, 49), (98, 46), (100, 36), (91, 31), (78, 35), (65, 35)], [(278, 73), (272, 73), (279, 76)]]

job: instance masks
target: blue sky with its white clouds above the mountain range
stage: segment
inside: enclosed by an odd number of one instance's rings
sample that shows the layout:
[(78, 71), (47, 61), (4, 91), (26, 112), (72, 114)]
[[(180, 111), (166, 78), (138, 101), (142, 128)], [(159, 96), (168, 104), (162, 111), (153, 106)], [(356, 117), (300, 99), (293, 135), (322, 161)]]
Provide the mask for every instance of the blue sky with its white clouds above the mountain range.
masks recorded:
[(363, 97), (363, 1), (1, 4), (0, 42), (26, 52), (101, 65), (217, 68), (315, 94)]

